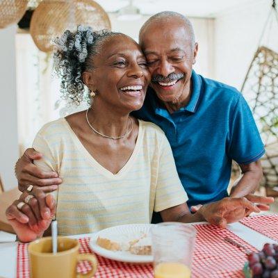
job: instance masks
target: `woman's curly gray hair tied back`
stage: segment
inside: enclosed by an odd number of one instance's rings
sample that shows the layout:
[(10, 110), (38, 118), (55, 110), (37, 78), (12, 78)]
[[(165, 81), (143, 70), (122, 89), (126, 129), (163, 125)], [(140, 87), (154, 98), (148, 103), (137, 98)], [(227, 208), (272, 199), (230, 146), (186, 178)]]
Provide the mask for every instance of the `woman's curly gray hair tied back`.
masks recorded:
[(104, 42), (115, 35), (123, 34), (105, 29), (96, 32), (90, 26), (79, 25), (76, 32), (67, 30), (54, 40), (54, 72), (61, 78), (61, 97), (69, 104), (90, 103), (82, 74), (95, 69), (92, 58), (100, 53)]

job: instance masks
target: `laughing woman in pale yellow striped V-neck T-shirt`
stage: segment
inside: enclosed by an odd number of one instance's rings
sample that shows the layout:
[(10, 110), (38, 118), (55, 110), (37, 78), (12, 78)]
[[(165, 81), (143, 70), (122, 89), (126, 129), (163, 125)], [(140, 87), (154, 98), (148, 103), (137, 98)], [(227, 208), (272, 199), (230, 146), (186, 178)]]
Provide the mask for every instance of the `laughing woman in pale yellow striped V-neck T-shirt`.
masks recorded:
[(92, 105), (46, 124), (35, 137), (33, 147), (44, 154), (37, 165), (58, 172), (63, 183), (56, 197), (33, 186), (7, 209), (19, 240), (42, 236), (54, 215), (58, 233), (68, 235), (149, 223), (153, 211), (164, 221), (208, 220), (220, 227), (259, 211), (246, 198), (225, 198), (190, 213), (163, 131), (130, 115), (142, 106), (150, 79), (134, 40), (79, 26), (56, 42), (55, 69), (64, 97), (79, 104), (86, 86)]

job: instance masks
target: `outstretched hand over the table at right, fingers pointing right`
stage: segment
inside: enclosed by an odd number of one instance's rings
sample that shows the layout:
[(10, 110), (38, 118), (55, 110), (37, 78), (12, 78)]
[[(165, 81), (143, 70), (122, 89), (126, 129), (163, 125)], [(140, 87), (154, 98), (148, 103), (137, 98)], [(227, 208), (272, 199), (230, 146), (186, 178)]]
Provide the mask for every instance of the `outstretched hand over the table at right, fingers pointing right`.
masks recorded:
[(226, 197), (218, 202), (204, 204), (199, 208), (198, 213), (201, 213), (206, 221), (224, 229), (227, 223), (237, 222), (252, 212), (259, 213), (261, 209), (268, 210), (267, 204), (272, 202), (274, 202), (272, 197), (252, 194), (240, 198)]

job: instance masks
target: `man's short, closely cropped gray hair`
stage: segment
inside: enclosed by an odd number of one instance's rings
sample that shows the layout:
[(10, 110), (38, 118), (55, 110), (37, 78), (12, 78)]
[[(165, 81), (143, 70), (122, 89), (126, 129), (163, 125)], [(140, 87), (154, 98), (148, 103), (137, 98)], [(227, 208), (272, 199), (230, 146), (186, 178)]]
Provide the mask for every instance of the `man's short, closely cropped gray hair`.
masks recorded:
[(190, 20), (187, 17), (185, 17), (184, 15), (181, 15), (180, 13), (170, 12), (170, 11), (156, 13), (152, 17), (149, 17), (147, 22), (145, 22), (143, 24), (143, 26), (140, 28), (139, 41), (140, 41), (140, 37), (141, 37), (142, 33), (146, 30), (146, 28), (150, 24), (152, 24), (153, 22), (161, 21), (161, 20), (169, 21), (169, 19), (173, 18), (173, 17), (181, 19), (181, 21), (184, 22), (184, 27), (186, 28), (186, 31), (188, 31), (188, 35), (190, 36), (192, 47), (194, 47), (194, 45), (195, 45), (195, 34), (194, 34), (193, 26), (192, 26)]

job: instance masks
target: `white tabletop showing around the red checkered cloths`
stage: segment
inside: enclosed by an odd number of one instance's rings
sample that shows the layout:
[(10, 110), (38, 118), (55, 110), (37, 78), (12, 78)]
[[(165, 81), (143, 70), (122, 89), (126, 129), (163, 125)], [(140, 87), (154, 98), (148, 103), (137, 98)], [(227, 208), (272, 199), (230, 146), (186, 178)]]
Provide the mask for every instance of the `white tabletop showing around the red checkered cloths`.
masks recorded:
[[(206, 222), (202, 222), (206, 223)], [(195, 223), (196, 224), (196, 223)], [(261, 250), (264, 243), (276, 243), (275, 240), (263, 236), (258, 232), (246, 227), (239, 222), (229, 224), (228, 228), (234, 234), (243, 238), (247, 243)], [(92, 234), (82, 234), (70, 236), (71, 238), (81, 238), (92, 236)], [(17, 243), (0, 243), (0, 277), (15, 278), (16, 277), (16, 259), (17, 259)]]

